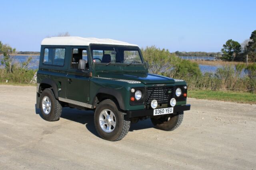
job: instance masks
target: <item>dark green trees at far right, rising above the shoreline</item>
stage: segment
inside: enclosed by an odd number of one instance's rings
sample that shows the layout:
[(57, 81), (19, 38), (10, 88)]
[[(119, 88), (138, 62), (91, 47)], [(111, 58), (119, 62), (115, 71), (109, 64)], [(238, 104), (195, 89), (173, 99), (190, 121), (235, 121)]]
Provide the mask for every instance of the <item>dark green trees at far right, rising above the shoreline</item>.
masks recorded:
[(225, 61), (246, 61), (248, 55), (248, 61), (256, 62), (256, 30), (254, 30), (250, 36), (250, 39), (246, 39), (243, 43), (238, 43), (232, 39), (226, 41), (221, 49), (222, 60)]

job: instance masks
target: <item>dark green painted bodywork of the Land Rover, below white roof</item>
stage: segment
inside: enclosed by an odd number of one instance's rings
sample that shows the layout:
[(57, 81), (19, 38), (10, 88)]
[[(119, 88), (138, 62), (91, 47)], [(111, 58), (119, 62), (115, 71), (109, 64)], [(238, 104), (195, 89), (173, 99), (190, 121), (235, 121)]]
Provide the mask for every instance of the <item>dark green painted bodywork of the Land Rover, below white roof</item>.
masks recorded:
[[(42, 46), (40, 54), (40, 63), (38, 70), (37, 82), (40, 84), (44, 80), (52, 80), (58, 87), (58, 96), (86, 104), (94, 104), (98, 92), (109, 94), (114, 92), (112, 96), (119, 98), (116, 100), (122, 102), (122, 109), (126, 111), (144, 109), (142, 105), (130, 105), (131, 88), (145, 88), (155, 86), (156, 84), (164, 84), (164, 86), (181, 86), (186, 82), (174, 80), (172, 78), (149, 74), (146, 63), (142, 64), (96, 64), (91, 60), (90, 46), (61, 46), (65, 47), (64, 66), (49, 66), (42, 64), (44, 56), (44, 48), (60, 47), (60, 46)], [(81, 71), (70, 68), (72, 48), (87, 49), (89, 70)], [(90, 72), (90, 76), (89, 76)], [(114, 79), (114, 80), (113, 80)], [(116, 80), (118, 79), (118, 80)], [(122, 80), (132, 80), (137, 83), (129, 83)], [(103, 90), (102, 90), (103, 89)], [(121, 97), (120, 97), (121, 96)], [(176, 105), (184, 105), (186, 100), (176, 102)]]

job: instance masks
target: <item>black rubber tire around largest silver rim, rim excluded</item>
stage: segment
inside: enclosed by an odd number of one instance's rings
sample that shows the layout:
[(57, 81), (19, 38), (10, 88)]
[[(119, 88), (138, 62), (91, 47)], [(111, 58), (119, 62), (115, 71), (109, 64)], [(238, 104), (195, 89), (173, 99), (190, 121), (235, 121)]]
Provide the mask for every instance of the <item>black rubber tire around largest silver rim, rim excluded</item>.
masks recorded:
[[(110, 133), (103, 131), (100, 127), (99, 117), (104, 109), (110, 109), (116, 117), (116, 127)], [(124, 114), (118, 110), (118, 107), (112, 100), (107, 99), (100, 102), (94, 112), (94, 125), (99, 136), (108, 141), (119, 141), (124, 138), (130, 129), (130, 121), (124, 118)]]

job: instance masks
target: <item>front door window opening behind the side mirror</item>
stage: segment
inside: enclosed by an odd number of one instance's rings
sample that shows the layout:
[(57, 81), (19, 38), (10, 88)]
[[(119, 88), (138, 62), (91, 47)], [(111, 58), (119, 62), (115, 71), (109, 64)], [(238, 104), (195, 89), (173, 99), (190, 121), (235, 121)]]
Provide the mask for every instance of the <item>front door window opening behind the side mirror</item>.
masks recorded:
[(89, 69), (87, 50), (86, 49), (72, 49), (72, 59), (70, 68), (78, 70), (79, 60), (83, 59), (86, 61), (86, 69)]

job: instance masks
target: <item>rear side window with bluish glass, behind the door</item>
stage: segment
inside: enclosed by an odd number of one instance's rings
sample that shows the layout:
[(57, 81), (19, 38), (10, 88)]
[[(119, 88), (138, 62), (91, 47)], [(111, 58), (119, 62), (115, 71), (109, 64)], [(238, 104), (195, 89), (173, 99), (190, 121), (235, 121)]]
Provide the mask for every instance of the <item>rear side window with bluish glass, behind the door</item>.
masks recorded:
[(44, 64), (64, 66), (65, 49), (64, 48), (46, 48), (44, 49)]

